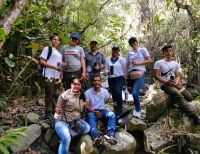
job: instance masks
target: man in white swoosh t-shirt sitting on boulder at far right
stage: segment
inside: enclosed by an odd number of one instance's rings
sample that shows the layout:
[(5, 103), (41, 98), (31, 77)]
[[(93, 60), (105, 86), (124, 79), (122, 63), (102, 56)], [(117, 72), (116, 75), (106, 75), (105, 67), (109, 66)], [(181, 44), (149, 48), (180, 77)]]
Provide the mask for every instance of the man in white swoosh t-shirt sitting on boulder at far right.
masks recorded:
[(186, 115), (193, 118), (194, 124), (200, 125), (200, 117), (188, 103), (192, 101), (192, 96), (180, 82), (180, 65), (172, 60), (174, 54), (172, 45), (165, 45), (162, 51), (164, 58), (155, 62), (154, 77), (161, 82), (161, 89), (177, 102)]

